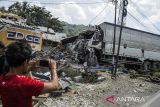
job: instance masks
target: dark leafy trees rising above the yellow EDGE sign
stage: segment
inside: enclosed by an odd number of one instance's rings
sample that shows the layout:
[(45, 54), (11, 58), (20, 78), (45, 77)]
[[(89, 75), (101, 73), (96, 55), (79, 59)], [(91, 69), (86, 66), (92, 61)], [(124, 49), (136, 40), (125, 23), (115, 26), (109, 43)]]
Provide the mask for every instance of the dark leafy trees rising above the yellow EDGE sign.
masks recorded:
[(52, 14), (44, 7), (30, 6), (27, 2), (16, 2), (9, 6), (8, 12), (17, 14), (27, 19), (27, 24), (32, 26), (45, 26), (56, 32), (63, 31), (63, 25), (58, 18), (54, 18)]

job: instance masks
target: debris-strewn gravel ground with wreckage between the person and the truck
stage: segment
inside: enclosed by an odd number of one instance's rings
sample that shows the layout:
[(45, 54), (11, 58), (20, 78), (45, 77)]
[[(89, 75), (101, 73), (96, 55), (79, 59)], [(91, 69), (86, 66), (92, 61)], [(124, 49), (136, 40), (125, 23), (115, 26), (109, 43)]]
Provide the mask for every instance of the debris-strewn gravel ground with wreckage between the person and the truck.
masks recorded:
[[(50, 93), (43, 101), (40, 100), (37, 107), (135, 107), (138, 102), (117, 101), (112, 104), (106, 98), (146, 98), (160, 89), (159, 72), (119, 67), (116, 80), (112, 80), (110, 66), (86, 66), (85, 59), (79, 56), (82, 53), (70, 51), (64, 51), (63, 60), (58, 59), (55, 52), (51, 51), (54, 50), (50, 50), (52, 58), (57, 58), (57, 73), (62, 89)], [(56, 52), (58, 51), (60, 50), (57, 49)], [(47, 80), (50, 78), (49, 72), (43, 72), (43, 76), (33, 75)]]

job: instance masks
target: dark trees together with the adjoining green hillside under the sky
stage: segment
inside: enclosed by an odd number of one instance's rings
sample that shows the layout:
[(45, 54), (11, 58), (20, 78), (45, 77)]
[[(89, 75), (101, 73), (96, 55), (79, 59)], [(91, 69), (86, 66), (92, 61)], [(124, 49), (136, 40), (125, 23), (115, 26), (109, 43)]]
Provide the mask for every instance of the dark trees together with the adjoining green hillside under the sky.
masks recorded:
[(5, 7), (1, 7), (0, 11), (21, 16), (26, 19), (28, 25), (44, 26), (53, 29), (55, 32), (66, 33), (67, 36), (77, 36), (88, 29), (85, 25), (68, 24), (60, 21), (58, 18), (53, 17), (51, 12), (46, 10), (45, 7), (30, 6), (27, 2), (16, 2), (9, 6), (8, 10)]

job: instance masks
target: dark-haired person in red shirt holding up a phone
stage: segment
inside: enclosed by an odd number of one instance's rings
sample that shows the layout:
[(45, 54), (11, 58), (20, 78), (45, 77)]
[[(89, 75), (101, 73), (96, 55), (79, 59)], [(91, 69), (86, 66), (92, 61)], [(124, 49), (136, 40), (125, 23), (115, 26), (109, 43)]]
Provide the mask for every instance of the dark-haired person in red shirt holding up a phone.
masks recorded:
[(36, 64), (31, 61), (31, 46), (14, 42), (6, 48), (5, 57), (9, 71), (0, 76), (0, 96), (3, 107), (32, 107), (32, 96), (60, 88), (56, 73), (56, 62), (49, 59), (51, 80), (41, 82), (26, 77), (28, 68)]

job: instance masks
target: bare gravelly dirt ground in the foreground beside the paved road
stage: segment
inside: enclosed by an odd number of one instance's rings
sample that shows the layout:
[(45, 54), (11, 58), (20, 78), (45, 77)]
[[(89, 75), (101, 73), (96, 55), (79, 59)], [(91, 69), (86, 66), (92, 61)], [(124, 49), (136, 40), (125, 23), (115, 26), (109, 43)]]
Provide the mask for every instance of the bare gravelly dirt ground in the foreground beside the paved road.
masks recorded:
[[(40, 102), (39, 107), (137, 107), (137, 104), (160, 90), (160, 85), (143, 78), (130, 79), (128, 74), (121, 74), (116, 80), (112, 80), (109, 74), (105, 74), (105, 77), (106, 80), (97, 83), (75, 83), (69, 92), (58, 97), (51, 95)], [(114, 104), (106, 100), (109, 96), (114, 96)], [(118, 101), (118, 97), (144, 99), (140, 102)]]

